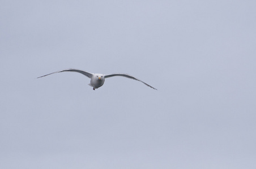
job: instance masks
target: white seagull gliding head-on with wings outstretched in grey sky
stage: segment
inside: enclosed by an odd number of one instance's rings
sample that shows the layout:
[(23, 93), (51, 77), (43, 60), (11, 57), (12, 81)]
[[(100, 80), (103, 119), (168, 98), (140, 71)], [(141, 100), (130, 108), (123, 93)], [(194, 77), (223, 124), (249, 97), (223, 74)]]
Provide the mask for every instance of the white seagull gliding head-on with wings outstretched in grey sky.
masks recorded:
[[(140, 81), (140, 79), (135, 78), (132, 75), (126, 74), (126, 73), (112, 73), (112, 74), (105, 75), (105, 74), (99, 74), (99, 73), (89, 73), (89, 72), (86, 72), (84, 70), (72, 69), (72, 68), (59, 70), (57, 72), (53, 72), (53, 73), (50, 73), (50, 74), (60, 73), (60, 72), (78, 72), (78, 73), (82, 73), (83, 75), (86, 75), (88, 78), (91, 79), (91, 82), (88, 85), (92, 86), (93, 90), (95, 90), (95, 88), (99, 88), (99, 87), (103, 86), (103, 84), (105, 82), (105, 78), (109, 78), (109, 77), (113, 77), (113, 76), (123, 76), (123, 77), (127, 77), (127, 78), (130, 78), (130, 79), (134, 79), (136, 81)], [(50, 75), (50, 74), (46, 74), (46, 75)], [(42, 75), (38, 78), (45, 77), (46, 75)], [(142, 82), (142, 81), (140, 81), (140, 82)], [(142, 83), (146, 84), (148, 87), (151, 87), (151, 88), (157, 90), (156, 88), (150, 86), (149, 84), (147, 84), (145, 82), (142, 82)]]

